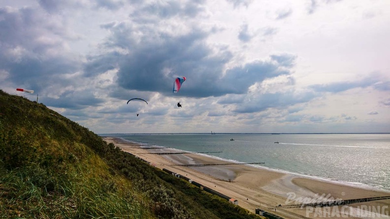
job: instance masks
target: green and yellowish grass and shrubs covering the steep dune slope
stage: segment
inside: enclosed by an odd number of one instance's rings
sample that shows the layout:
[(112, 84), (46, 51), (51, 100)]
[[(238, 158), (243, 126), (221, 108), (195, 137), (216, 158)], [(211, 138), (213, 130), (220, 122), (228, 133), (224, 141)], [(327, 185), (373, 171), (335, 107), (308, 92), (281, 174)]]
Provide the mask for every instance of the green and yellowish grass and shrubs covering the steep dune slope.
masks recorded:
[(245, 219), (254, 214), (0, 90), (0, 218)]

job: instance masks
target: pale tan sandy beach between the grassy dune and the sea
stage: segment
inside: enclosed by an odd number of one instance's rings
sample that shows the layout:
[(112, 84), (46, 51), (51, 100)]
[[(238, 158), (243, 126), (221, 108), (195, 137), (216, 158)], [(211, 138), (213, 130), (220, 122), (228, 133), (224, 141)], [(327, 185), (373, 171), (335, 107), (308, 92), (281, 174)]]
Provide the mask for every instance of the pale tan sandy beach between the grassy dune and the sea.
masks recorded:
[[(325, 214), (325, 208), (278, 208), (278, 205), (297, 204), (296, 200), (309, 200), (311, 202), (323, 202), (333, 199), (357, 199), (380, 196), (390, 196), (390, 192), (370, 190), (338, 184), (337, 182), (326, 182), (310, 178), (304, 178), (293, 174), (270, 171), (263, 168), (256, 168), (248, 165), (210, 165), (200, 167), (180, 166), (181, 164), (211, 164), (227, 163), (226, 161), (214, 159), (210, 156), (199, 154), (177, 154), (177, 155), (156, 155), (147, 153), (174, 152), (174, 149), (142, 149), (136, 143), (123, 142), (117, 138), (105, 137), (107, 143), (114, 143), (125, 152), (148, 160), (157, 168), (166, 168), (173, 172), (186, 176), (206, 187), (212, 188), (229, 197), (238, 200), (238, 205), (255, 213), (256, 208), (268, 211), (282, 218), (390, 218), (390, 199), (362, 202), (348, 205), (348, 209), (339, 207), (328, 207), (331, 213)], [(175, 151), (177, 152), (177, 151)], [(322, 196), (322, 198), (320, 198)], [(325, 198), (324, 198), (325, 197)], [(326, 199), (327, 198), (327, 199)], [(319, 201), (313, 201), (319, 200)], [(366, 210), (359, 213), (360, 209)], [(382, 210), (379, 214), (370, 214), (371, 207)], [(325, 210), (324, 210), (325, 209)], [(335, 212), (335, 210), (338, 212)], [(318, 212), (321, 210), (321, 214)], [(359, 216), (359, 217), (357, 217)], [(361, 217), (360, 217), (361, 216)]]

